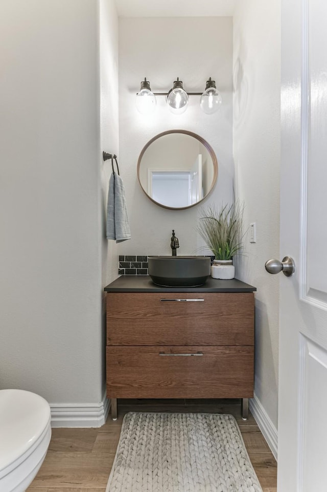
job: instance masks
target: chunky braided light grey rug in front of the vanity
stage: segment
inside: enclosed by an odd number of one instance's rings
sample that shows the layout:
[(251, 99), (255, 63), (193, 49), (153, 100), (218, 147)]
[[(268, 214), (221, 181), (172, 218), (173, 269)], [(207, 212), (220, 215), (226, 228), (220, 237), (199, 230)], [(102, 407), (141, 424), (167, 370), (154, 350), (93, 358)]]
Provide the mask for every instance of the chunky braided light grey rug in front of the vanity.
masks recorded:
[(234, 417), (125, 415), (106, 492), (262, 492)]

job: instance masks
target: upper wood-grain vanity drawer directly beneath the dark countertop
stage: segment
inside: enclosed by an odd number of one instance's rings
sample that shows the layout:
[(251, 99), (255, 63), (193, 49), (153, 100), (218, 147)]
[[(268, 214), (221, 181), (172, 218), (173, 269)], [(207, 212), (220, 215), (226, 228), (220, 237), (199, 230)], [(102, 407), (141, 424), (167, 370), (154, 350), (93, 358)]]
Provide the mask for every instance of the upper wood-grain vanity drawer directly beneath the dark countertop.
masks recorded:
[(253, 326), (252, 292), (107, 294), (107, 345), (253, 345)]

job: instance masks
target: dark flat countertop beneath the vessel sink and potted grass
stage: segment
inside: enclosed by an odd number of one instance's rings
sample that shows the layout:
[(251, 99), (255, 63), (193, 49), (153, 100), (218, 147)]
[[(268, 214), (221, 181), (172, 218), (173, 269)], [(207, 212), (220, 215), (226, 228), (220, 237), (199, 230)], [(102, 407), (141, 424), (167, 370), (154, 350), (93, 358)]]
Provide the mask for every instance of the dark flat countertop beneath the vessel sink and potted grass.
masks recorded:
[(107, 285), (106, 292), (254, 292), (256, 287), (237, 279), (218, 280), (208, 277), (199, 287), (160, 287), (149, 275), (122, 275)]

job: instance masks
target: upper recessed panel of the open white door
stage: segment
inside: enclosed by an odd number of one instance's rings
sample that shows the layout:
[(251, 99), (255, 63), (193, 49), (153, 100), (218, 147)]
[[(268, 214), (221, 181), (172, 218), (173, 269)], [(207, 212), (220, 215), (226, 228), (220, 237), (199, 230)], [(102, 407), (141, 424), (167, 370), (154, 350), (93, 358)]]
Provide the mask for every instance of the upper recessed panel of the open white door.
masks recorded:
[[(326, 18), (327, 8), (321, 0), (304, 2), (305, 16), (303, 27), (307, 30), (307, 63), (303, 74), (308, 79), (309, 98), (304, 102), (308, 105), (308, 274), (307, 291), (309, 288), (327, 292), (326, 245), (323, 241), (324, 225), (327, 220), (326, 183), (327, 166), (327, 51)], [(319, 292), (311, 292), (315, 298)], [(324, 302), (327, 296), (324, 295)]]

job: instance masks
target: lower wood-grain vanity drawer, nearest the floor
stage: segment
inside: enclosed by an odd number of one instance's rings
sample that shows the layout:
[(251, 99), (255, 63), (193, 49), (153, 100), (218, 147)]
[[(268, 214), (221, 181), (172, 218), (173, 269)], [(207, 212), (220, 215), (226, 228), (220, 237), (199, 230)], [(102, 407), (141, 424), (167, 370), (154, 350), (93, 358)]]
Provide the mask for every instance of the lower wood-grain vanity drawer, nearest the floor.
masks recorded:
[(253, 347), (107, 347), (106, 359), (108, 397), (253, 397)]

